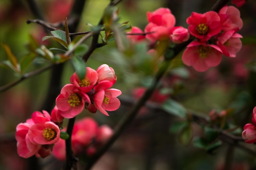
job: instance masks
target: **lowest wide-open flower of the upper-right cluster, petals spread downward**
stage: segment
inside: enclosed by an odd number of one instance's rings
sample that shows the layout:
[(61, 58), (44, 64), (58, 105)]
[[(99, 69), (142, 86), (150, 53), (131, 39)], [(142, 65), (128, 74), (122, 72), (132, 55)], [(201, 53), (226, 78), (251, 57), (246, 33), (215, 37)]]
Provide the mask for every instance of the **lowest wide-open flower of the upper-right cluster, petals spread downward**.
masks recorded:
[(193, 66), (196, 71), (207, 71), (217, 66), (221, 61), (221, 49), (213, 44), (191, 42), (182, 54), (182, 61), (187, 66)]

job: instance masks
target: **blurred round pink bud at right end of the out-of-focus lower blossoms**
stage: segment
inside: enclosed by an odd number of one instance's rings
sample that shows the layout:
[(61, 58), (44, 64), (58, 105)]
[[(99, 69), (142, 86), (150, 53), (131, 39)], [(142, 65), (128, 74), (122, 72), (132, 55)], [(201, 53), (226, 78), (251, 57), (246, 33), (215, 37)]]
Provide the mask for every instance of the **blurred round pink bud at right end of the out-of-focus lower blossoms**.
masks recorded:
[(108, 125), (101, 125), (98, 128), (96, 141), (99, 144), (103, 144), (113, 135), (113, 129), (110, 128)]

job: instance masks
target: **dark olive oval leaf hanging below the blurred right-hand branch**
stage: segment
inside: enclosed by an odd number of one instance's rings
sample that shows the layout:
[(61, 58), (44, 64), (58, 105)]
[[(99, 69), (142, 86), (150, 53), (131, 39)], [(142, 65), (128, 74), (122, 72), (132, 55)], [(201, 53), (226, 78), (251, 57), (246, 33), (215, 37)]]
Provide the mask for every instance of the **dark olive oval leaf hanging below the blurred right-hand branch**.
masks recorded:
[(184, 146), (189, 145), (189, 143), (192, 140), (192, 137), (193, 137), (193, 131), (189, 124), (184, 126), (178, 134), (178, 139), (179, 139), (180, 143), (183, 144)]

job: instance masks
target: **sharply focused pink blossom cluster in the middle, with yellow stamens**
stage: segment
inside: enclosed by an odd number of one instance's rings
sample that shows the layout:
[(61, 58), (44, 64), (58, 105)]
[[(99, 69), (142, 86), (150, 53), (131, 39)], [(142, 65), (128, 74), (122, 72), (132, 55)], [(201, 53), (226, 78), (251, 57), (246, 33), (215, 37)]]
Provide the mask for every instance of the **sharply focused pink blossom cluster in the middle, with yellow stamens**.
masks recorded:
[(62, 117), (75, 117), (84, 108), (91, 113), (99, 110), (108, 115), (107, 111), (117, 110), (120, 106), (117, 97), (121, 91), (110, 88), (117, 80), (113, 68), (102, 64), (96, 71), (90, 67), (85, 69), (85, 77), (79, 79), (75, 72), (70, 77), (70, 84), (63, 86), (61, 94), (56, 98), (56, 107)]

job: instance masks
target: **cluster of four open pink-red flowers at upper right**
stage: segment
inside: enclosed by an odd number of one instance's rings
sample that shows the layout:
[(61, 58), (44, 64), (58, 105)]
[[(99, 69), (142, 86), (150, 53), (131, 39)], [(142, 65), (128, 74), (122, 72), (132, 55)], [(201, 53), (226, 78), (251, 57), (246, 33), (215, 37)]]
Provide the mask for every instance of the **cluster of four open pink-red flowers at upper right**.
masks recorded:
[(191, 42), (182, 55), (182, 61), (196, 71), (207, 71), (220, 64), (222, 54), (236, 57), (241, 49), (242, 36), (236, 33), (243, 26), (240, 11), (234, 6), (224, 6), (218, 13), (192, 12), (186, 19), (189, 33), (196, 40)]

